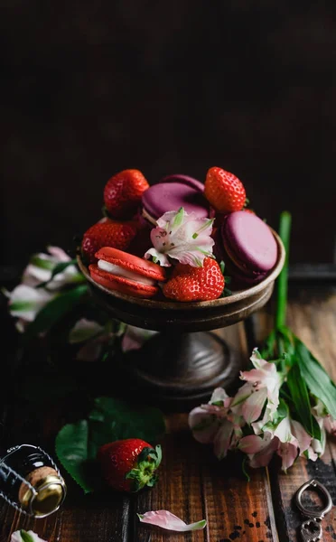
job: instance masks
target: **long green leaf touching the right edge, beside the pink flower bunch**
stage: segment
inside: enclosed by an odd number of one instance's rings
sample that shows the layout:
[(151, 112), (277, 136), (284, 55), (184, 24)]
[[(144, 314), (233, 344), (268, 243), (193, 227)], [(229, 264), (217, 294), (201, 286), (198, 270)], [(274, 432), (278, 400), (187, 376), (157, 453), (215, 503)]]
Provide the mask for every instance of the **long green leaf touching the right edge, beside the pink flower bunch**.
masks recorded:
[(300, 339), (295, 337), (295, 352), (304, 382), (310, 392), (321, 399), (333, 418), (336, 418), (336, 386), (319, 361)]

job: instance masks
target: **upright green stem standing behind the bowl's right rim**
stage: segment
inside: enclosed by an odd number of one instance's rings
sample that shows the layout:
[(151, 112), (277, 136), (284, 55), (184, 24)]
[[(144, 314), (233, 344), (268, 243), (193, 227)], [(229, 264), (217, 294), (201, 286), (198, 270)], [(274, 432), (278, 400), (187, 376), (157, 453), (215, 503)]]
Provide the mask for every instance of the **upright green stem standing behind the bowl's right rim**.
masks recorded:
[(287, 307), (287, 285), (288, 285), (288, 258), (289, 258), (289, 239), (291, 233), (292, 217), (288, 211), (283, 211), (280, 215), (279, 236), (285, 246), (285, 265), (277, 279), (277, 299), (275, 313), (275, 328), (280, 329), (285, 326), (285, 313)]

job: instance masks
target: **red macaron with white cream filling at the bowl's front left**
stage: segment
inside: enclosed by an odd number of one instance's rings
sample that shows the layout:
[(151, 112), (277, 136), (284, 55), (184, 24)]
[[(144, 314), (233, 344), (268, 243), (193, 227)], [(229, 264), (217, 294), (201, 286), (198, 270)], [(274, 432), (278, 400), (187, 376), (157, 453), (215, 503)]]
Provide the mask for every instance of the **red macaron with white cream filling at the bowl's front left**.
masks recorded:
[(117, 248), (100, 248), (95, 256), (98, 263), (89, 266), (90, 276), (109, 290), (148, 298), (159, 292), (157, 283), (165, 280), (163, 267)]

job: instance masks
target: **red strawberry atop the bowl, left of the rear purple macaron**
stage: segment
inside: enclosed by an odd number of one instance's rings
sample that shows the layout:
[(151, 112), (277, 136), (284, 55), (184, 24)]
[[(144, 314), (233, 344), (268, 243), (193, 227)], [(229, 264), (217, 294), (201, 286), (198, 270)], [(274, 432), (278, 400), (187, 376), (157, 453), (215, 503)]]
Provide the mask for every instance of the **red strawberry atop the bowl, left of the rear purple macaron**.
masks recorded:
[(110, 216), (114, 219), (131, 218), (147, 188), (149, 184), (138, 170), (124, 170), (113, 175), (104, 189), (104, 202)]

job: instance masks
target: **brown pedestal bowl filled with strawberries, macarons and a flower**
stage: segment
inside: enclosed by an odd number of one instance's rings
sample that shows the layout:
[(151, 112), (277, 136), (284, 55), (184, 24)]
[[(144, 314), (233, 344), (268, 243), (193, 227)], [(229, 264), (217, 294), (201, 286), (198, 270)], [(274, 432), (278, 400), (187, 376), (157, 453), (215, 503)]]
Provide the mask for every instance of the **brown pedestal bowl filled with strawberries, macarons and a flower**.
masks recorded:
[(243, 183), (219, 167), (204, 184), (173, 174), (151, 186), (125, 170), (107, 181), (104, 210), (78, 252), (90, 291), (120, 321), (160, 332), (129, 364), (128, 381), (173, 401), (228, 384), (228, 349), (210, 331), (266, 304), (285, 263)]

